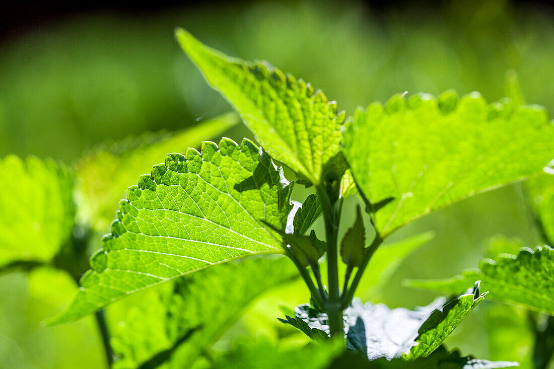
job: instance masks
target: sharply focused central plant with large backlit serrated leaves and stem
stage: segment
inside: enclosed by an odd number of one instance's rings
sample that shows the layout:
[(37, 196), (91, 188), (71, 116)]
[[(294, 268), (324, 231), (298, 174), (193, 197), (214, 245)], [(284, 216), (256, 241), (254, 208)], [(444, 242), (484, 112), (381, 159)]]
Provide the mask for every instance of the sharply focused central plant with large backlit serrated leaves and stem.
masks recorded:
[[(79, 319), (136, 291), (207, 273), (216, 264), (284, 254), (305, 281), (311, 301), (281, 320), (319, 345), (337, 345), (339, 351), (346, 347), (358, 357), (361, 353), (364, 365), (374, 365), (370, 367), (516, 365), (461, 357), (442, 345), (485, 298), (481, 279), (496, 296), (505, 292), (493, 291), (489, 274), (517, 278), (502, 271), (507, 262), (464, 274), (461, 295), (414, 310), (364, 305), (355, 295), (372, 257), (399, 228), (476, 193), (543, 173), (554, 158), (554, 126), (542, 107), (510, 99), (487, 104), (478, 93), (458, 98), (447, 91), (438, 98), (393, 96), (347, 117), (322, 91), (265, 61), (227, 57), (183, 29), (177, 29), (176, 37), (257, 142), (203, 142), (201, 150), (170, 153), (150, 175), (140, 176), (119, 202), (111, 234), (91, 257), (74, 299), (48, 324)], [(278, 163), (294, 177), (285, 178)], [(299, 185), (313, 189), (303, 203), (291, 201), (293, 187)], [(362, 206), (340, 235), (348, 196), (359, 196)], [(325, 234), (312, 230), (320, 217)], [(541, 249), (534, 257), (552, 266), (547, 253)], [(510, 262), (524, 258), (530, 256), (520, 254)], [(274, 265), (282, 280), (291, 278), (283, 271), (283, 259), (262, 260), (264, 274), (245, 269), (245, 275), (275, 279)], [(240, 278), (239, 273), (220, 273)], [(188, 304), (196, 303), (191, 296), (201, 299), (195, 283), (211, 288), (204, 278), (191, 276), (188, 282), (176, 286), (186, 289), (182, 296), (188, 296)], [(552, 282), (545, 283), (552, 291)], [(249, 286), (241, 288), (252, 292)], [(526, 304), (521, 296), (535, 294), (534, 306), (554, 313), (552, 295), (525, 288), (511, 300)], [(201, 329), (201, 324), (190, 324), (177, 341)]]

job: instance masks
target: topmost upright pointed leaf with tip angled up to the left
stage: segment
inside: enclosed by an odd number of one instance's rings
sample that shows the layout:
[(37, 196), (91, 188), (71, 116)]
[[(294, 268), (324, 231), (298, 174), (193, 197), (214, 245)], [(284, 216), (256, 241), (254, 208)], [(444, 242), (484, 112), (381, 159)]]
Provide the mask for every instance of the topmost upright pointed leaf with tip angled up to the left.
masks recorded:
[(275, 160), (313, 184), (340, 152), (345, 119), (335, 101), (268, 63), (229, 58), (178, 28), (176, 38), (204, 78), (227, 99)]

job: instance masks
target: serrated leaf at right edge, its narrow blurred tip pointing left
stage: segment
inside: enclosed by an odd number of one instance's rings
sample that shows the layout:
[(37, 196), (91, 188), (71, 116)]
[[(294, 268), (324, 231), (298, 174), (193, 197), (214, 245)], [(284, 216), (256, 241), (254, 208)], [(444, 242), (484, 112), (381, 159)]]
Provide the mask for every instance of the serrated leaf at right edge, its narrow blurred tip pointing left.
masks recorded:
[(554, 314), (554, 250), (548, 246), (535, 250), (522, 248), (517, 255), (501, 254), (496, 260), (483, 259), (479, 270), (465, 270), (449, 279), (408, 280), (407, 286), (454, 293), (481, 280), (481, 288), (489, 298), (522, 304), (529, 309)]

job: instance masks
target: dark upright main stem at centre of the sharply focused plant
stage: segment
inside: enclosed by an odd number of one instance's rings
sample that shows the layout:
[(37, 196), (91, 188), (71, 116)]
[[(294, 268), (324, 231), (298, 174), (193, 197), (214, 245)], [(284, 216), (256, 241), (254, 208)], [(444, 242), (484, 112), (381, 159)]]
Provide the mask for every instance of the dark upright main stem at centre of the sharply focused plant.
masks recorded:
[(331, 337), (344, 340), (344, 323), (342, 320), (340, 289), (338, 287), (337, 233), (340, 214), (335, 211), (325, 187), (316, 186), (325, 221), (325, 237), (327, 242), (327, 276), (329, 278), (329, 299), (326, 304), (327, 317)]

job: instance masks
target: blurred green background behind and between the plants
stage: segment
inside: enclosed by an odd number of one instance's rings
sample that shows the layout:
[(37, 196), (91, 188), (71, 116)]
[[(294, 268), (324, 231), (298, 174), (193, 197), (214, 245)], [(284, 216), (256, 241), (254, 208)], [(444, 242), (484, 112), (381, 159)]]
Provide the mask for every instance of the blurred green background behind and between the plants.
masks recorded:
[[(511, 71), (528, 102), (554, 111), (554, 8), (502, 0), (431, 4), (272, 1), (132, 15), (78, 12), (48, 27), (11, 34), (0, 44), (0, 155), (72, 164), (100, 142), (178, 130), (229, 111), (179, 50), (176, 26), (229, 55), (266, 59), (310, 81), (347, 114), (402, 91), (437, 95), (452, 88), (463, 95), (478, 90), (494, 101), (506, 95)], [(240, 140), (249, 133), (240, 126), (225, 135)], [(295, 194), (305, 196), (300, 190)], [(348, 199), (342, 224), (351, 224), (356, 201)], [(425, 230), (434, 230), (436, 237), (408, 258), (373, 300), (393, 307), (428, 304), (435, 294), (404, 288), (401, 280), (452, 276), (475, 267), (495, 234), (537, 243), (520, 184), (458, 203), (392, 239)], [(92, 319), (53, 328), (39, 324), (66, 304), (73, 282), (60, 274), (59, 293), (45, 296), (37, 288), (40, 276), (33, 278), (38, 280), (30, 283), (18, 273), (0, 276), (0, 367), (102, 367)], [(237, 331), (247, 326), (254, 334), (274, 337), (265, 321), (273, 324), (280, 316), (276, 306), (303, 303), (306, 295), (294, 284), (266, 296)], [(502, 322), (510, 309), (481, 305), (449, 337), (448, 346), (480, 358), (518, 360), (521, 353), (501, 352), (502, 337), (488, 334), (488, 326)], [(528, 332), (519, 326), (510, 332), (517, 329), (525, 347)]]

